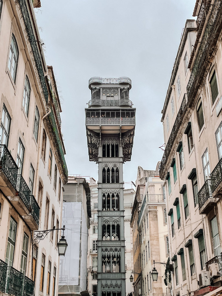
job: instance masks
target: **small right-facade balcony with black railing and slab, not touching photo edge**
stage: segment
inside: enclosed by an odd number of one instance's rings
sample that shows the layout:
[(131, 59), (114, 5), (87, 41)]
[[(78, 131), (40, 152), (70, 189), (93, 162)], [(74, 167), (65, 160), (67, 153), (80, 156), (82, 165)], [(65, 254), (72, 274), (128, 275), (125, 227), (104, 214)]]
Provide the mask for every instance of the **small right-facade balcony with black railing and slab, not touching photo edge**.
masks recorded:
[(198, 192), (198, 200), (200, 214), (208, 214), (217, 203), (218, 198), (212, 197), (212, 185), (210, 179), (206, 180), (206, 182)]

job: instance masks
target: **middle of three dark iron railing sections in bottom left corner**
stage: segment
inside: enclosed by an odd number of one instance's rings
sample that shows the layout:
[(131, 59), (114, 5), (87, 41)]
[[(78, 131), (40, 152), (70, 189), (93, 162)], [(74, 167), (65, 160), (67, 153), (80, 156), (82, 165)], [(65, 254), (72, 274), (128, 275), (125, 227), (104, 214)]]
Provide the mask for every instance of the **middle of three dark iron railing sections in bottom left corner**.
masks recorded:
[(22, 295), (22, 279), (23, 274), (13, 268), (7, 267), (6, 292), (15, 296)]

